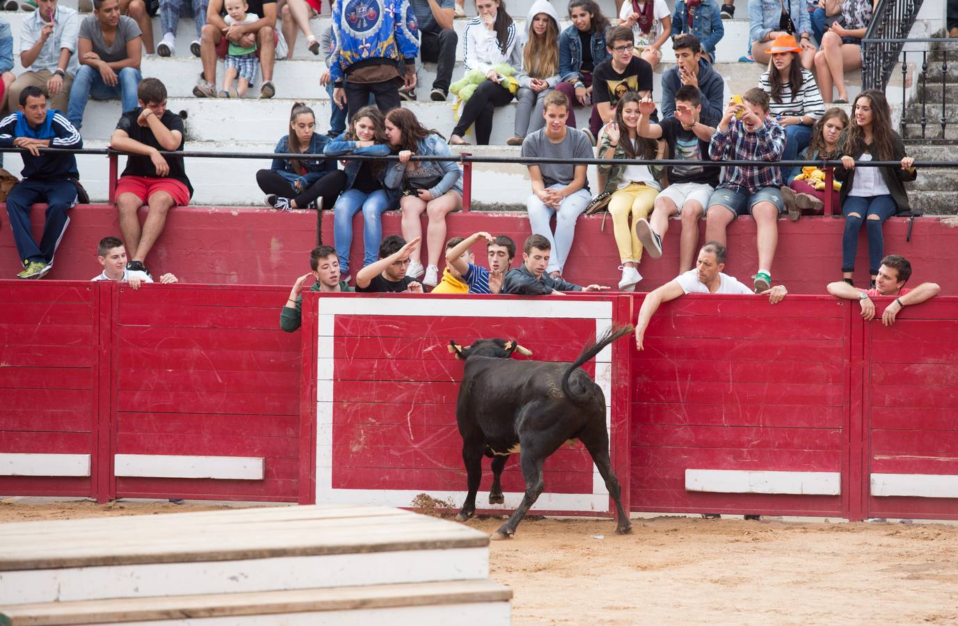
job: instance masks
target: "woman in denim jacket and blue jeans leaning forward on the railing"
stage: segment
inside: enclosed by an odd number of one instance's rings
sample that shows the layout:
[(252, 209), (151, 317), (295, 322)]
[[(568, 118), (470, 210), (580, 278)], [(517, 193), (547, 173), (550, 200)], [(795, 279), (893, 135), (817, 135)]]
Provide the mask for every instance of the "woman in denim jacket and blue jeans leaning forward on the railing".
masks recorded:
[[(386, 156), (390, 153), (386, 138), (385, 118), (376, 106), (364, 106), (349, 128), (326, 145), (327, 156), (350, 154)], [(349, 282), (350, 249), (353, 246), (353, 217), (363, 215), (363, 267), (375, 263), (382, 239), (382, 213), (395, 209), (399, 193), (385, 186), (387, 165), (384, 161), (345, 160), (346, 190), (336, 200), (332, 235), (339, 256), (339, 269)]]

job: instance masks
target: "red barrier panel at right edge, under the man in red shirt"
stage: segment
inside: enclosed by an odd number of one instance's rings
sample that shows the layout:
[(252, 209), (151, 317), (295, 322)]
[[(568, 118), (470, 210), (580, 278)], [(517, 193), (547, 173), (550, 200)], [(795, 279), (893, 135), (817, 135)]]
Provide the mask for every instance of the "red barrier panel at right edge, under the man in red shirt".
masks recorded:
[[(880, 299), (878, 313), (891, 299)], [(864, 324), (864, 471), (869, 517), (958, 518), (958, 299)]]

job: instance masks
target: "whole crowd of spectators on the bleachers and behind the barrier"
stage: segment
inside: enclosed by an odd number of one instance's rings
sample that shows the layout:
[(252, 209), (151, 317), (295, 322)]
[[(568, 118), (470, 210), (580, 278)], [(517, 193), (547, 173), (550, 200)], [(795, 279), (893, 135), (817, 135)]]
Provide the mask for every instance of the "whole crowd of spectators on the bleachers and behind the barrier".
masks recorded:
[[(189, 15), (197, 29), (190, 50), (202, 65), (194, 87), (199, 98), (242, 97), (257, 78), (262, 79), (260, 98), (272, 98), (274, 61), (292, 55), (298, 32), (305, 35), (310, 53), (322, 53), (327, 60), (328, 70), (318, 78), (333, 102), (330, 132), (321, 132), (312, 109), (296, 102), (276, 152), (301, 156), (276, 158), (256, 176), (274, 209), (334, 212), (334, 246), (313, 251), (312, 272), (297, 281), (287, 302), (294, 311), (306, 287), (344, 290), (351, 283), (357, 291), (431, 288), (439, 293), (538, 295), (602, 290), (606, 287), (579, 286), (562, 277), (579, 216), (603, 209), (611, 217), (622, 263), (620, 290), (632, 291), (642, 280), (643, 252), (652, 259), (662, 257), (670, 217), (680, 218), (681, 278), (696, 272), (701, 250), (713, 255), (712, 269), (722, 265), (728, 225), (751, 215), (758, 264), (750, 290), (769, 294), (780, 216), (794, 220), (803, 212), (821, 212), (828, 194), (845, 216), (844, 282), (853, 281), (864, 227), (870, 286), (878, 288), (886, 265), (881, 225), (909, 210), (903, 183), (915, 179), (913, 160), (892, 128), (881, 92), (858, 94), (851, 116), (842, 108), (826, 108), (849, 100), (844, 73), (860, 65), (859, 43), (872, 18), (873, 0), (750, 0), (751, 45), (741, 60), (761, 62), (767, 71), (755, 87), (728, 101), (713, 63), (724, 32), (722, 19), (734, 13), (731, 4), (679, 0), (669, 11), (664, 0), (627, 0), (618, 3), (613, 24), (594, 0), (571, 0), (571, 24), (562, 29), (559, 14), (546, 0), (533, 3), (522, 27), (503, 0), (474, 3), (477, 15), (468, 20), (462, 41), (470, 84), (458, 89), (452, 82), (459, 45), (452, 28), (458, 8), (452, 0), (335, 0), (331, 27), (319, 38), (309, 26), (320, 9), (318, 0), (164, 0), (158, 4), (163, 36), (155, 52), (152, 25), (140, 0), (94, 0), (93, 13), (85, 17), (57, 0), (36, 0), (20, 34), (24, 72), (15, 77), (10, 26), (0, 19), (0, 89), (4, 108), (13, 110), (0, 122), (0, 146), (25, 150), (23, 180), (7, 197), (23, 262), (19, 278), (50, 272), (68, 212), (83, 201), (75, 157), (39, 149), (81, 147), (90, 98), (121, 101), (110, 145), (129, 155), (116, 193), (123, 238), (119, 245), (104, 239), (99, 278), (152, 278), (146, 266), (149, 252), (168, 212), (187, 205), (193, 187), (183, 158), (161, 154), (183, 150), (184, 125), (166, 108), (166, 86), (157, 78), (143, 78), (141, 62), (145, 54), (171, 56), (176, 22)], [(662, 61), (662, 47), (670, 38), (675, 62), (662, 76), (657, 107), (652, 69)], [(220, 82), (217, 57), (225, 59)], [(447, 137), (402, 107), (403, 101), (417, 99), (421, 60), (437, 63), (430, 100), (446, 101), (450, 90), (459, 94), (458, 123)], [(479, 144), (488, 144), (496, 109), (513, 100), (515, 122), (508, 143), (521, 145), (523, 157), (556, 161), (528, 167), (532, 235), (515, 268), (515, 243), (509, 237), (477, 233), (448, 238), (445, 225), (445, 216), (463, 206), (462, 172), (449, 145), (466, 144), (470, 127)], [(580, 116), (582, 129), (577, 108), (586, 109)], [(389, 155), (398, 158), (352, 158)], [(597, 167), (595, 190), (589, 187), (588, 166), (581, 163), (593, 158), (610, 160)], [(646, 163), (656, 158), (683, 165)], [(706, 165), (796, 159), (810, 165)], [(825, 189), (824, 175), (814, 165), (823, 159), (841, 161), (833, 189)], [(870, 160), (900, 165), (855, 167)], [(29, 217), (36, 202), (48, 204), (40, 241), (31, 234)], [(148, 213), (141, 225), (138, 213), (144, 205)], [(397, 209), (401, 235), (383, 237), (381, 215)], [(353, 276), (349, 263), (357, 212), (363, 215), (364, 261)], [(703, 217), (710, 243), (699, 250)], [(470, 252), (480, 241), (489, 246), (489, 269), (476, 264)], [(905, 273), (901, 267), (896, 271), (899, 277)], [(169, 276), (162, 281), (171, 281)], [(687, 281), (691, 284), (693, 278)], [(666, 295), (676, 294), (673, 289)], [(284, 313), (284, 327), (297, 320), (298, 315)]]

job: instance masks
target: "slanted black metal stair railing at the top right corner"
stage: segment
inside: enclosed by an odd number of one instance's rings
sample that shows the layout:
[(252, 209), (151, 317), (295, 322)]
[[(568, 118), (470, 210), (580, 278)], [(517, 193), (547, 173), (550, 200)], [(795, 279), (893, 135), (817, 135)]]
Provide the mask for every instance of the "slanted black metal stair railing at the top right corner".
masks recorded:
[[(861, 40), (861, 87), (884, 91), (923, 0), (879, 0)], [(902, 64), (903, 65), (903, 64)]]

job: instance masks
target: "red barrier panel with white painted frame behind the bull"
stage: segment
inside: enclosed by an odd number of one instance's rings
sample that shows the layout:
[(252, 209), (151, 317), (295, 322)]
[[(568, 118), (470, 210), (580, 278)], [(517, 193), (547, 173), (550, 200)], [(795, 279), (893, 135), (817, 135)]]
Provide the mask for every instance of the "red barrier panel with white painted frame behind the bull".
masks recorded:
[[(316, 302), (318, 301), (318, 302)], [(450, 340), (516, 339), (541, 360), (574, 361), (596, 331), (627, 320), (626, 298), (550, 299), (356, 297), (308, 295), (303, 340), (315, 345), (316, 502), (409, 506), (420, 493), (460, 505), (465, 498), (462, 439), (455, 404), (463, 364)], [(318, 338), (318, 342), (317, 339)], [(619, 360), (616, 361), (615, 358)], [(605, 350), (585, 368), (615, 399), (612, 380), (626, 352)], [(598, 369), (598, 371), (597, 371)], [(616, 400), (618, 402), (618, 400)], [(616, 407), (619, 408), (618, 406)], [(622, 414), (620, 412), (620, 414)], [(613, 429), (613, 458), (627, 467), (625, 432)], [(505, 506), (522, 497), (513, 456), (503, 473)], [(480, 491), (488, 492), (490, 459)], [(621, 469), (620, 469), (621, 471)], [(563, 448), (545, 465), (546, 491), (535, 510), (607, 514), (608, 496), (582, 446)], [(489, 507), (485, 495), (479, 506)]]

